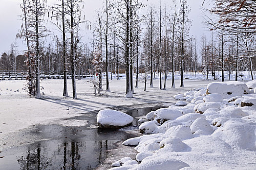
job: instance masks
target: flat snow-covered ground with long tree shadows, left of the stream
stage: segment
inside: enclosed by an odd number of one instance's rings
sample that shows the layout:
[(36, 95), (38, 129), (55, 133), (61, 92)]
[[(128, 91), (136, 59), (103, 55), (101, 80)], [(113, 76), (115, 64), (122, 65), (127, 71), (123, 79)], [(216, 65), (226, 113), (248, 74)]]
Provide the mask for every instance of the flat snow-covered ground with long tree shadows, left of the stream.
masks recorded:
[[(26, 128), (34, 124), (64, 124), (65, 126), (83, 126), (83, 121), (67, 121), (64, 118), (79, 116), (93, 110), (112, 108), (114, 106), (130, 106), (144, 103), (163, 103), (171, 105), (175, 102), (174, 94), (185, 92), (192, 88), (206, 86), (209, 81), (185, 80), (185, 87), (180, 88), (180, 81), (176, 81), (177, 88), (171, 89), (171, 80), (167, 81), (167, 90), (159, 90), (159, 80), (154, 81), (154, 88), (144, 91), (144, 83), (139, 82), (135, 89), (134, 98), (125, 98), (125, 80), (110, 81), (110, 93), (94, 95), (89, 80), (77, 80), (78, 100), (64, 98), (63, 80), (42, 80), (43, 100), (30, 97), (25, 90), (25, 80), (0, 81), (0, 138), (3, 135)], [(68, 94), (72, 96), (71, 79), (68, 79)], [(69, 108), (69, 114), (67, 114)], [(0, 141), (0, 148), (3, 147)]]

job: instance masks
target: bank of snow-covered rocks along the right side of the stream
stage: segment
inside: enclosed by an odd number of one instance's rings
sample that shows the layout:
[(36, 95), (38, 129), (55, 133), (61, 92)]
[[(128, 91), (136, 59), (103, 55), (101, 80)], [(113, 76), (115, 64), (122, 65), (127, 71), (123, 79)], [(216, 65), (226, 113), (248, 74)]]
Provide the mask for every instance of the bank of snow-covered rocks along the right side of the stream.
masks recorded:
[(256, 168), (256, 80), (213, 82), (174, 96), (176, 105), (149, 112), (139, 127), (136, 161), (116, 160), (111, 170)]

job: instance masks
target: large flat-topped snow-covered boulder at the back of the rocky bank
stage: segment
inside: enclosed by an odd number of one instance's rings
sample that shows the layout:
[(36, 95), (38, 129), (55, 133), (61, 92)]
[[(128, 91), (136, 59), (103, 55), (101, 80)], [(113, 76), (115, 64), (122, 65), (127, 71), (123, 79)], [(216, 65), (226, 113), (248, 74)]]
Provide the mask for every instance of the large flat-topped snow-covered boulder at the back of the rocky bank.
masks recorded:
[(219, 93), (223, 98), (242, 96), (248, 92), (248, 87), (243, 82), (213, 82), (207, 85), (207, 94)]

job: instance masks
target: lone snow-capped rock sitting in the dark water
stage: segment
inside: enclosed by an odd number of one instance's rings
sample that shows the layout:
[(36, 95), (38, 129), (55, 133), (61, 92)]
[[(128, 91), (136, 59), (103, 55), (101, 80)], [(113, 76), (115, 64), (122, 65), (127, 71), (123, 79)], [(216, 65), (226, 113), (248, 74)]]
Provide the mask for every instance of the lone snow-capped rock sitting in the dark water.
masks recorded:
[(133, 118), (126, 113), (105, 109), (99, 111), (97, 123), (100, 128), (118, 128), (127, 126), (133, 121)]

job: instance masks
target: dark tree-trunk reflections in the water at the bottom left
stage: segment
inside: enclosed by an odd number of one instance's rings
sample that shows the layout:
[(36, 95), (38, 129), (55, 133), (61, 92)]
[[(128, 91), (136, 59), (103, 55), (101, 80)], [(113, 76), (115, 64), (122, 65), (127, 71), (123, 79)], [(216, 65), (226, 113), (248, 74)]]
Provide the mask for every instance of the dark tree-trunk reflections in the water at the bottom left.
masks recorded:
[[(111, 148), (116, 141), (110, 141)], [(88, 170), (107, 155), (108, 140), (71, 141), (53, 147), (38, 147), (23, 153), (17, 160), (21, 170)], [(80, 161), (82, 160), (82, 161)]]

